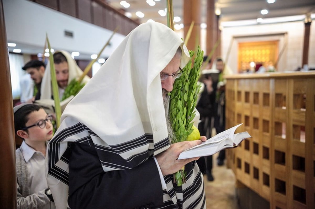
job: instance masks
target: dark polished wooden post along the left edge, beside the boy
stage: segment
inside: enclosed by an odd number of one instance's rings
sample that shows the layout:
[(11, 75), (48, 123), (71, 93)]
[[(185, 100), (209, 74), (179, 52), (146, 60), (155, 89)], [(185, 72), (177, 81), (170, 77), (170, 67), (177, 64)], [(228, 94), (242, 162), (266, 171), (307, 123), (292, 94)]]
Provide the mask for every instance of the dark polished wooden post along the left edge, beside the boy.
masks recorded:
[(0, 0), (0, 202), (1, 208), (16, 208), (15, 140), (9, 54)]

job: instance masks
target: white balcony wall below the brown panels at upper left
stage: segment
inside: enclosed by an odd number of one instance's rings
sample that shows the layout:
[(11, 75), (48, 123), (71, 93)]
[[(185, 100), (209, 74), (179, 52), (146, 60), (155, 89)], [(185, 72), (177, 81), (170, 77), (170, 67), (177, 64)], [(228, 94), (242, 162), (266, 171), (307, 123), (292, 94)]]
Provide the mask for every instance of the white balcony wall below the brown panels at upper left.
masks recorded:
[[(3, 8), (8, 42), (38, 47), (40, 53), (46, 33), (55, 50), (79, 51), (89, 55), (97, 54), (112, 34), (108, 29), (31, 1), (4, 0)], [(66, 37), (64, 30), (72, 31), (74, 37)], [(102, 56), (108, 57), (124, 37), (115, 34), (111, 40), (112, 46), (106, 47)]]

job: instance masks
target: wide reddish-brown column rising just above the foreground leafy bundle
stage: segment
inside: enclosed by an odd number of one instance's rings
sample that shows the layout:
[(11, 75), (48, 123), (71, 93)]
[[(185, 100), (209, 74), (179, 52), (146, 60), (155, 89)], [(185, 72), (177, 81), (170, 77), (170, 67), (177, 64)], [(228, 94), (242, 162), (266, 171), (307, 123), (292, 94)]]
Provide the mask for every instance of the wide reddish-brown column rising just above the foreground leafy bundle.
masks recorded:
[(195, 22), (187, 43), (188, 50), (195, 50), (196, 43), (200, 45), (200, 5), (201, 0), (184, 0), (184, 37), (186, 38), (188, 29), (192, 21)]

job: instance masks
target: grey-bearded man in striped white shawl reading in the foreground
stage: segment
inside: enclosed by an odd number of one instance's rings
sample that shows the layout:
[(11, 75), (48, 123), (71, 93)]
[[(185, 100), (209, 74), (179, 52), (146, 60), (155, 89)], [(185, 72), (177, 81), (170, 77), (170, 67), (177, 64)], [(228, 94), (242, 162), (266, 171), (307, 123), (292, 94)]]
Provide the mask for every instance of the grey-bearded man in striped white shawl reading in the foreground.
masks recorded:
[[(127, 35), (67, 105), (49, 142), (57, 208), (206, 208), (198, 158), (177, 160), (205, 137), (169, 141), (167, 93), (189, 59), (163, 24), (140, 24)], [(177, 186), (173, 174), (183, 166), (186, 183)]]

